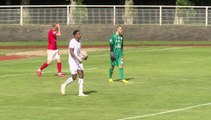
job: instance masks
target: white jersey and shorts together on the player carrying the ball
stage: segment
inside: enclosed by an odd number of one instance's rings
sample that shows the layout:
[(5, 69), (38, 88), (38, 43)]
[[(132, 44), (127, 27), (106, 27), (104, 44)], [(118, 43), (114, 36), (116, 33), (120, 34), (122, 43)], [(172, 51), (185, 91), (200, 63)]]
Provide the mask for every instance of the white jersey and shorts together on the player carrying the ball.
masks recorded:
[[(70, 48), (74, 49), (73, 53), (75, 54), (76, 57), (79, 58), (79, 54), (80, 54), (80, 51), (81, 51), (80, 41), (77, 41), (75, 38), (71, 39), (70, 42), (69, 42), (69, 49)], [(83, 64), (79, 63), (77, 60), (75, 60), (70, 55), (70, 51), (69, 51), (69, 66), (70, 66), (70, 72), (72, 74), (76, 74), (77, 70), (83, 71)]]

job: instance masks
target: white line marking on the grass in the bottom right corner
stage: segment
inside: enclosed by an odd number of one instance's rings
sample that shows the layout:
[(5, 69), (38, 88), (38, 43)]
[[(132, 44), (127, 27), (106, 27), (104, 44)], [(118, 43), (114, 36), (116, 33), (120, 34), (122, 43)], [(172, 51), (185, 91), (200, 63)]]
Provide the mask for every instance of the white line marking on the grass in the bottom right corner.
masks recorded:
[(138, 118), (147, 118), (147, 117), (153, 117), (153, 116), (158, 116), (158, 115), (167, 114), (167, 113), (181, 112), (181, 111), (199, 108), (199, 107), (203, 107), (203, 106), (209, 106), (209, 105), (211, 105), (211, 102), (205, 103), (205, 104), (194, 105), (194, 106), (190, 106), (190, 107), (185, 107), (185, 108), (180, 108), (180, 109), (173, 109), (173, 110), (164, 111), (164, 112), (145, 114), (145, 115), (141, 115), (141, 116), (133, 116), (133, 117), (122, 118), (122, 119), (117, 119), (117, 120), (133, 120), (133, 119), (138, 119)]

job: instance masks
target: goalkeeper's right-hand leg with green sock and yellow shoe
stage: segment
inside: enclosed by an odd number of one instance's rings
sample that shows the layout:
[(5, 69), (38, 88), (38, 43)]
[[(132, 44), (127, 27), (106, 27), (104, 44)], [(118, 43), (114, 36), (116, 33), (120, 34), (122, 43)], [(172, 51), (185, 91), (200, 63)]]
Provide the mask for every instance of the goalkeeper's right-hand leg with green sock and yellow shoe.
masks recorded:
[(120, 81), (121, 82), (123, 82), (123, 83), (128, 83), (128, 81), (127, 80), (125, 80), (124, 79), (124, 69), (123, 69), (123, 62), (124, 60), (123, 60), (123, 58), (118, 58), (118, 66), (119, 66), (119, 79), (120, 79)]

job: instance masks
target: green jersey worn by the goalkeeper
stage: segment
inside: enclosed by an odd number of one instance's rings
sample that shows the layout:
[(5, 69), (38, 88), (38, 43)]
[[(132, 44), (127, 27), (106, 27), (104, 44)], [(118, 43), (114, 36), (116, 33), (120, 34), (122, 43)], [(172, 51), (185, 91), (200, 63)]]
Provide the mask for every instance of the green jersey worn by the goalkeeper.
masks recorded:
[(115, 58), (123, 57), (123, 36), (113, 34), (110, 38), (110, 49), (114, 53)]

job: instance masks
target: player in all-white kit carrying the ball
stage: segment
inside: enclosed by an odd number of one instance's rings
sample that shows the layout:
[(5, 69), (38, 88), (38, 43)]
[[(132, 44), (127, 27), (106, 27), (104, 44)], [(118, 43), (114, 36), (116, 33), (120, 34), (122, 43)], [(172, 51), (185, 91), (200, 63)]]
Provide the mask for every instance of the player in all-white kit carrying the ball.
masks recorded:
[(69, 42), (69, 67), (71, 72), (71, 77), (69, 77), (62, 85), (61, 85), (61, 94), (65, 95), (66, 86), (76, 80), (77, 75), (79, 77), (78, 85), (79, 85), (79, 93), (78, 96), (87, 96), (83, 93), (83, 85), (84, 85), (84, 68), (82, 60), (79, 56), (81, 51), (81, 33), (79, 30), (75, 30), (73, 32), (74, 38)]

